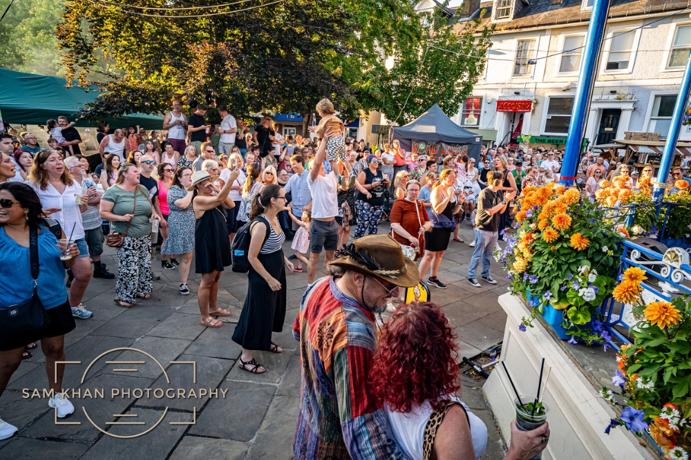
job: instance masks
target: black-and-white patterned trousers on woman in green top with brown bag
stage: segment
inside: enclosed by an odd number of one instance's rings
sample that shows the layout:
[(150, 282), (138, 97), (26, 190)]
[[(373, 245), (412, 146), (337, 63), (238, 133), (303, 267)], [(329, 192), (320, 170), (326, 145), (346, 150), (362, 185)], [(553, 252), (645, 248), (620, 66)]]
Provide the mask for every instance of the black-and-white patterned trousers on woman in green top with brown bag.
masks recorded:
[(134, 303), (137, 294), (151, 293), (151, 233), (125, 237), (124, 245), (117, 248), (117, 269), (117, 300)]

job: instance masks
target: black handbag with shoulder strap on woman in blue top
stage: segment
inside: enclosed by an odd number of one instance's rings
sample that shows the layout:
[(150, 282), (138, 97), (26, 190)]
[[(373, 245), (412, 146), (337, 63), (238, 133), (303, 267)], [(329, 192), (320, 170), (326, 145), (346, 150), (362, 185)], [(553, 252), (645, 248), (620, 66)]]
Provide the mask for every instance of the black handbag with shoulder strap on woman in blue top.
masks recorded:
[(29, 230), (29, 253), (31, 258), (31, 278), (34, 280), (34, 293), (24, 303), (0, 308), (0, 337), (12, 341), (28, 332), (37, 332), (50, 323), (37, 292), (39, 278), (39, 244), (36, 229)]

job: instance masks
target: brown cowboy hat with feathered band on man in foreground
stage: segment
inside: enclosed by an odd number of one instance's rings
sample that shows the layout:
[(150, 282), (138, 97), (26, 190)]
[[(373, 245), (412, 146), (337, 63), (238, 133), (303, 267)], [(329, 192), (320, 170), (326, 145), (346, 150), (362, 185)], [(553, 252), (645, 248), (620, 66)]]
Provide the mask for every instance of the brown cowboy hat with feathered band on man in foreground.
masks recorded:
[(403, 255), (399, 242), (388, 234), (363, 236), (345, 248), (345, 256), (329, 263), (401, 287), (413, 287), (420, 282), (415, 262)]

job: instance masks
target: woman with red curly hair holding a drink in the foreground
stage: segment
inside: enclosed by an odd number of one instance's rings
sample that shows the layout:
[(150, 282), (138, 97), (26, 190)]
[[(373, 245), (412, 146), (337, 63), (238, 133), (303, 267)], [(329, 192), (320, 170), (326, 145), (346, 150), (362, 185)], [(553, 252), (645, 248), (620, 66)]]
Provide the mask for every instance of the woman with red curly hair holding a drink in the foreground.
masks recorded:
[[(388, 434), (410, 460), (479, 459), (487, 446), (486, 426), (455, 395), (461, 387), (455, 339), (433, 303), (400, 305), (384, 324), (370, 394), (384, 403)], [(512, 422), (504, 460), (530, 459), (548, 438), (547, 423), (523, 432)]]

